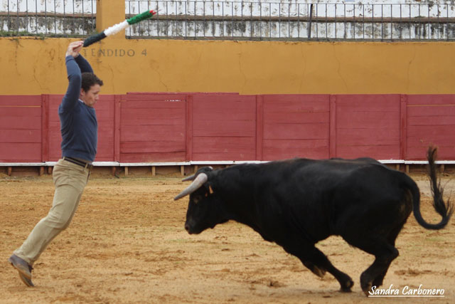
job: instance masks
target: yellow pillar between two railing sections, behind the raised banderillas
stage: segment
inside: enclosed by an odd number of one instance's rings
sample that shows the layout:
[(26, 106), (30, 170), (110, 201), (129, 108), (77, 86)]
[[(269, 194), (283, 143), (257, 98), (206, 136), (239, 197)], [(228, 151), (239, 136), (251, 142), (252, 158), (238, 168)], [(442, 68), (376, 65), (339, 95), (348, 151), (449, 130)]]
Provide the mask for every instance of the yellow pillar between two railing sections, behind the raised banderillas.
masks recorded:
[[(124, 0), (97, 0), (97, 31), (100, 33), (109, 26), (125, 20)], [(125, 32), (120, 31), (111, 38), (125, 38)]]

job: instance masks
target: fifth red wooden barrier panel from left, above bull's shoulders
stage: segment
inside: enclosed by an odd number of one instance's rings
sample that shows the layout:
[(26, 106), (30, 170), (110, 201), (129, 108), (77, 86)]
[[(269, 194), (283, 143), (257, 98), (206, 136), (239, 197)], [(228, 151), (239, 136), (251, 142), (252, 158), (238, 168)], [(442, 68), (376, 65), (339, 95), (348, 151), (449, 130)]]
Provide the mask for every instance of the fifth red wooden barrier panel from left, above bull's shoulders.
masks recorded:
[(262, 159), (328, 158), (329, 95), (264, 95)]

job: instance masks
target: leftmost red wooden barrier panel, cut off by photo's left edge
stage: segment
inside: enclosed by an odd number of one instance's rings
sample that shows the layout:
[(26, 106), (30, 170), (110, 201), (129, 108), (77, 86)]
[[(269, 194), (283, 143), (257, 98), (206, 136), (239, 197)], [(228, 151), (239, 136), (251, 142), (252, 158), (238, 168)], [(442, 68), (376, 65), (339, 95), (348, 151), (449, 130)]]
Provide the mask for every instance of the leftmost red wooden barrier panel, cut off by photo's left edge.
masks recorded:
[(41, 96), (0, 95), (0, 162), (41, 162)]

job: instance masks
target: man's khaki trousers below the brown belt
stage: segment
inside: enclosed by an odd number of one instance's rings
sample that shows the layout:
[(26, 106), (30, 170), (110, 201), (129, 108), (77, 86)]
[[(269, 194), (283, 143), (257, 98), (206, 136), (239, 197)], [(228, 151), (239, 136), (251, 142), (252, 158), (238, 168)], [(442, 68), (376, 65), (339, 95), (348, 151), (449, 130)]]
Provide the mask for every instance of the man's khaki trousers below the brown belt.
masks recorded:
[(22, 246), (14, 254), (33, 265), (55, 236), (73, 219), (80, 197), (88, 182), (90, 170), (60, 159), (53, 169), (55, 194), (47, 216), (36, 224)]

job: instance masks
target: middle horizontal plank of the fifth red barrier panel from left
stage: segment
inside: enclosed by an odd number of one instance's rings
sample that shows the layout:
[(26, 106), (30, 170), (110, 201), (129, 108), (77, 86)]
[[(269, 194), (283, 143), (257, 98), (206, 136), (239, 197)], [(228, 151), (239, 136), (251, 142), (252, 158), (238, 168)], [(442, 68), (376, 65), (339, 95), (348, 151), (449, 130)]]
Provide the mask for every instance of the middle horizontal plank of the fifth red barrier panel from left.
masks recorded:
[(299, 139), (328, 139), (329, 124), (265, 124), (264, 139), (267, 140), (299, 140)]

